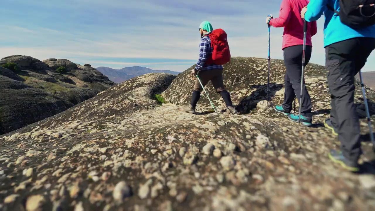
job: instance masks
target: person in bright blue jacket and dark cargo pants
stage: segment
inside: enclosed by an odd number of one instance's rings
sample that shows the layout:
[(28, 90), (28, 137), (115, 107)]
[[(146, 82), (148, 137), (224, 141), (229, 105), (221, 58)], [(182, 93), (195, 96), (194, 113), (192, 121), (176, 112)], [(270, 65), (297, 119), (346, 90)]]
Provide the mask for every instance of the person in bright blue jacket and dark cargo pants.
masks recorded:
[(346, 169), (357, 172), (362, 154), (360, 123), (354, 105), (354, 76), (363, 68), (375, 49), (375, 25), (353, 29), (340, 20), (340, 0), (311, 0), (302, 9), (306, 21), (317, 21), (324, 13), (324, 48), (331, 94), (331, 118), (324, 125), (338, 134), (341, 150), (329, 157)]

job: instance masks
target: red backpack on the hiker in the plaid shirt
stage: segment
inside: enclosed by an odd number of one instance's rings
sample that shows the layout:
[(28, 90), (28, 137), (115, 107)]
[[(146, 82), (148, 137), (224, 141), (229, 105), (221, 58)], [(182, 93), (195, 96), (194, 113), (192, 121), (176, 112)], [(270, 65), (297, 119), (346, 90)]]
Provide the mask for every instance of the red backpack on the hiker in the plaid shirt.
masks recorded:
[(213, 48), (212, 57), (207, 59), (207, 64), (224, 65), (231, 60), (226, 32), (222, 29), (215, 29), (208, 35)]

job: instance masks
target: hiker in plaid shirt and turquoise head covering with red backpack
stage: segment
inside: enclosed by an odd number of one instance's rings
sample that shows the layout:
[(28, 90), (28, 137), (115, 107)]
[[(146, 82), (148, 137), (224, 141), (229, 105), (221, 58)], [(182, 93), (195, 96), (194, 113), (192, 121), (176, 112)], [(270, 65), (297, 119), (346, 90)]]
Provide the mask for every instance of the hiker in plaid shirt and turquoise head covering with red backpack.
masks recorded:
[[(195, 80), (192, 93), (192, 100), (189, 105), (184, 107), (184, 111), (195, 113), (196, 104), (201, 96), (204, 86), (211, 81), (217, 93), (220, 93), (225, 101), (226, 114), (237, 113), (236, 108), (232, 104), (229, 92), (225, 90), (223, 83), (223, 65), (230, 63), (230, 52), (227, 41), (227, 35), (222, 29), (213, 30), (212, 25), (208, 21), (203, 21), (199, 26), (201, 34), (201, 42), (199, 44), (199, 59), (192, 69), (191, 74)], [(207, 95), (208, 96), (208, 95)]]

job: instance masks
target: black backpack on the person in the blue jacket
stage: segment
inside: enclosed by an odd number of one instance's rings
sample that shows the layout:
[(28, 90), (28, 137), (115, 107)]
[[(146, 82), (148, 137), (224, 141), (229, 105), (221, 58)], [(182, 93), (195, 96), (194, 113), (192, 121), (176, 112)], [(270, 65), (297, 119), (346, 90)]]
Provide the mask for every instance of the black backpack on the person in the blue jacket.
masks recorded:
[(340, 11), (330, 5), (327, 7), (339, 15), (343, 24), (353, 29), (375, 25), (375, 0), (340, 0)]

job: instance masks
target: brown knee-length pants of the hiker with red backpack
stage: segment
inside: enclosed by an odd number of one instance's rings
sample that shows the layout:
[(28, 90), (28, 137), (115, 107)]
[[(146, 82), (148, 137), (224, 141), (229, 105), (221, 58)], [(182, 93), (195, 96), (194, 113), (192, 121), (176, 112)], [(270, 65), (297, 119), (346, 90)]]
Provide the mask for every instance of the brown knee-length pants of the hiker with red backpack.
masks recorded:
[[(216, 89), (216, 92), (221, 92), (225, 90), (223, 83), (223, 70), (222, 69), (211, 69), (198, 73), (198, 77), (202, 82), (203, 87), (206, 86), (208, 81), (211, 81), (213, 87)], [(198, 81), (198, 78), (195, 79), (194, 91), (201, 92), (203, 88)]]

